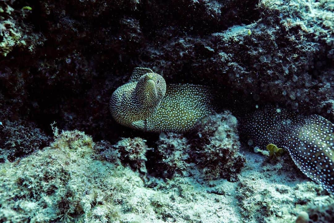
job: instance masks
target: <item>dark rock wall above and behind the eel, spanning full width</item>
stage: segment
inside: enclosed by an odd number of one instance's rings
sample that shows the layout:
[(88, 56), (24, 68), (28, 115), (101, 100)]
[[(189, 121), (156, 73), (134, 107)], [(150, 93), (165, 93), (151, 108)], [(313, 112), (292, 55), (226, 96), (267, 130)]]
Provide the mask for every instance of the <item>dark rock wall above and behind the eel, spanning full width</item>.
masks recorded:
[(274, 102), (334, 120), (329, 0), (0, 6), (1, 42), (13, 41), (0, 46), (2, 120), (28, 118), (48, 133), (56, 121), (97, 139), (116, 138), (108, 99), (136, 66), (167, 83), (208, 85), (221, 104)]

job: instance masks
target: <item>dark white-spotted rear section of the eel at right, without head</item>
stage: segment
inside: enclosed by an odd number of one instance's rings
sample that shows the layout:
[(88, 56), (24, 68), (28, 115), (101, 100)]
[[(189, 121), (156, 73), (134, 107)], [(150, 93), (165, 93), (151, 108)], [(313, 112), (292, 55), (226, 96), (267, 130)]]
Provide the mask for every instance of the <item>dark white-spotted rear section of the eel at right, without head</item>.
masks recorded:
[(334, 124), (319, 115), (296, 115), (270, 106), (245, 117), (240, 130), (248, 144), (287, 150), (298, 168), (334, 194)]

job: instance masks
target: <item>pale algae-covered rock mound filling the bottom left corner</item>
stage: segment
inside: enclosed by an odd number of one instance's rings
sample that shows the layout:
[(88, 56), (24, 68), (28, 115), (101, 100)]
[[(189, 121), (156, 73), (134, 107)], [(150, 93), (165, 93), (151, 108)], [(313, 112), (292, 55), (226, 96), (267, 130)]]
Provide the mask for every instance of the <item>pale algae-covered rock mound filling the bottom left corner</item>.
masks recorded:
[(107, 176), (114, 165), (94, 161), (93, 148), (90, 136), (65, 131), (50, 147), (1, 164), (1, 221), (105, 222), (116, 218), (117, 208), (106, 203), (113, 198), (107, 192), (112, 188)]

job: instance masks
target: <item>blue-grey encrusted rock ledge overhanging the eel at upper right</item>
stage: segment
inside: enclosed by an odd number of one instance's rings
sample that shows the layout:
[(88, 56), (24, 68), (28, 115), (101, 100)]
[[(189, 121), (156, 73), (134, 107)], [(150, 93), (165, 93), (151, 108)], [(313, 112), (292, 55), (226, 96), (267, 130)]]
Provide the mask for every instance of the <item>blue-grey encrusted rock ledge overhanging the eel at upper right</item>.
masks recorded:
[[(145, 65), (163, 73), (167, 82), (167, 77), (209, 80), (218, 88), (227, 87), (220, 92), (222, 98), (234, 93), (235, 97), (251, 102), (280, 102), (289, 109), (320, 114), (333, 121), (332, 3), (330, 0), (292, 1), (291, 5), (278, 2), (225, 1), (226, 5), (254, 3), (247, 7), (249, 11), (236, 17), (257, 19), (240, 24), (234, 18), (222, 18), (234, 23), (208, 35), (191, 35), (188, 30), (186, 34), (175, 33), (178, 29), (174, 27), (162, 29), (165, 33), (161, 31), (157, 41), (163, 42), (163, 46), (145, 49), (148, 51), (145, 55), (150, 55), (153, 61)], [(224, 15), (236, 12), (235, 8), (221, 10)], [(251, 11), (252, 14), (247, 14)], [(194, 24), (186, 28), (192, 26), (196, 29)]]

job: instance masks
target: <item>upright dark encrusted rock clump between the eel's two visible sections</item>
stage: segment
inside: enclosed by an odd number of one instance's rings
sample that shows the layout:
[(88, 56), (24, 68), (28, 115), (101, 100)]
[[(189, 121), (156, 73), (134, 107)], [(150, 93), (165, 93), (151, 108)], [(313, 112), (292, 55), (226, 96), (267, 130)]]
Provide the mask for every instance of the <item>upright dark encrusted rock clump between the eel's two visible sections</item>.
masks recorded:
[(210, 115), (199, 122), (197, 137), (190, 140), (191, 154), (207, 180), (238, 179), (246, 159), (239, 152), (237, 123), (230, 111)]

